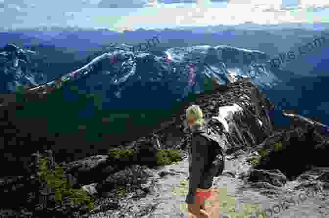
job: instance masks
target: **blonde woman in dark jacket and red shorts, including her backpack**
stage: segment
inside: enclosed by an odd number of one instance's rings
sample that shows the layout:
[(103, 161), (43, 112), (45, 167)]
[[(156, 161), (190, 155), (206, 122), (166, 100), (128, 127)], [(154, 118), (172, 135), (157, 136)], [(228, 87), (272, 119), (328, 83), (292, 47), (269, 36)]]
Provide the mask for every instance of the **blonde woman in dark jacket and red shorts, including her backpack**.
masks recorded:
[(211, 196), (213, 177), (222, 173), (224, 161), (218, 162), (218, 156), (224, 159), (225, 146), (218, 141), (214, 144), (213, 135), (206, 127), (203, 112), (198, 105), (191, 105), (186, 110), (187, 125), (192, 141), (189, 149), (188, 195), (185, 202), (188, 212), (197, 218), (210, 218), (205, 210), (205, 200)]

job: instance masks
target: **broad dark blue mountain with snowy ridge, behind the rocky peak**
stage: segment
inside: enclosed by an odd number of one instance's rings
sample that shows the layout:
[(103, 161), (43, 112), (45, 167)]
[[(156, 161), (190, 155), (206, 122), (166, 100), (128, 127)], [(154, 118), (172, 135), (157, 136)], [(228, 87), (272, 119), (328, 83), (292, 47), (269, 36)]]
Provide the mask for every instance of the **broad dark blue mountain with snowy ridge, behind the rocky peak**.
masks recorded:
[[(155, 55), (151, 51), (133, 53), (118, 49), (109, 52), (98, 51), (91, 57), (88, 61), (77, 60), (74, 68), (68, 65), (65, 71), (70, 73), (51, 67), (54, 71), (47, 77), (60, 78), (63, 84), (67, 85), (56, 91), (57, 94), (49, 95), (47, 103), (41, 104), (42, 109), (32, 109), (34, 104), (31, 103), (31, 106), (26, 106), (31, 109), (23, 110), (20, 116), (32, 118), (42, 114), (47, 117), (48, 130), (51, 132), (76, 131), (82, 128), (81, 125), (86, 125), (82, 123), (90, 123), (87, 126), (94, 126), (94, 132), (88, 131), (88, 134), (93, 135), (92, 138), (100, 139), (100, 135), (110, 131), (108, 127), (103, 126), (104, 122), (122, 122), (115, 131), (124, 133), (124, 123), (127, 123), (127, 119), (130, 119), (134, 126), (138, 126), (145, 116), (149, 116), (148, 121), (143, 122), (146, 128), (156, 123), (157, 119), (170, 116), (174, 105), (187, 100), (190, 95), (207, 92), (210, 79), (215, 79), (217, 84), (225, 86), (241, 78), (250, 78), (251, 83), (257, 86), (260, 92), (269, 95), (279, 107), (295, 105), (294, 108), (299, 113), (304, 110), (304, 106), (299, 103), (281, 104), (283, 97), (289, 102), (297, 99), (294, 95), (284, 93), (289, 86), (282, 84), (289, 80), (296, 81), (294, 87), (298, 90), (301, 76), (274, 69), (269, 65), (269, 55), (259, 50), (230, 46), (192, 46), (167, 48)], [(68, 63), (71, 60), (70, 56), (60, 58), (63, 58), (63, 62), (67, 59), (65, 61)], [(58, 69), (64, 69), (61, 68), (62, 60), (58, 61)], [(73, 71), (74, 69), (77, 70)], [(15, 74), (13, 72), (12, 75)], [(76, 78), (72, 78), (73, 74)], [(6, 79), (3, 81), (10, 84), (23, 84), (14, 81), (14, 77)], [(51, 81), (38, 86), (40, 84), (28, 86), (34, 87), (34, 91), (47, 92), (47, 89), (52, 90), (56, 83)], [(14, 90), (12, 88), (8, 91), (13, 93)], [(312, 94), (318, 95), (316, 92)], [(299, 96), (299, 93), (296, 93), (296, 96)], [(322, 101), (319, 99), (318, 102)], [(58, 109), (55, 105), (63, 106)], [(53, 111), (54, 107), (56, 110)], [(47, 114), (45, 111), (53, 112)], [(315, 114), (316, 111), (317, 108), (309, 108), (310, 114)], [(59, 129), (63, 116), (71, 122)], [(281, 121), (280, 110), (275, 111), (275, 117), (276, 124), (284, 122)], [(95, 124), (95, 120), (98, 120), (98, 124)]]

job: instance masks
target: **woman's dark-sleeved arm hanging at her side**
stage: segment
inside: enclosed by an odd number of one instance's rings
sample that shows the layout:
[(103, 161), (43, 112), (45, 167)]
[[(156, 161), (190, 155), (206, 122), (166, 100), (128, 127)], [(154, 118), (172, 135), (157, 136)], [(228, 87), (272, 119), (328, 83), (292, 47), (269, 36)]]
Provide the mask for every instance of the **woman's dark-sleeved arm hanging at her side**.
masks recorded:
[(188, 196), (185, 202), (195, 204), (195, 192), (201, 182), (204, 167), (208, 161), (208, 142), (202, 136), (195, 136), (191, 142), (191, 166), (189, 166)]

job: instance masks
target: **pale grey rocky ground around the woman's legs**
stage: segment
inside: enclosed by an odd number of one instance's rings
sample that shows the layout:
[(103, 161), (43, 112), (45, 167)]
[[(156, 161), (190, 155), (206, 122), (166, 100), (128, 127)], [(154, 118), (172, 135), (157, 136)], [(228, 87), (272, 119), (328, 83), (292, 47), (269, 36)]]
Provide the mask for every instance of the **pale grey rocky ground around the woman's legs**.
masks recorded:
[[(211, 188), (212, 196), (206, 204), (211, 218), (225, 218), (225, 215), (231, 218), (256, 218), (256, 211), (265, 211), (264, 216), (259, 212), (260, 218), (326, 218), (329, 216), (328, 189), (321, 181), (312, 179), (328, 176), (329, 168), (314, 168), (278, 188), (269, 183), (249, 182), (243, 175), (251, 169), (251, 165), (246, 162), (250, 154), (243, 151), (240, 153), (240, 155), (236, 155), (239, 152), (228, 155), (223, 174), (214, 178)], [(192, 218), (184, 202), (188, 191), (186, 180), (188, 158), (177, 164), (161, 166), (155, 171), (162, 176), (155, 184), (155, 193), (148, 194), (138, 201), (130, 201), (125, 207), (121, 207), (121, 210), (109, 210), (94, 214), (89, 218)], [(260, 184), (263, 187), (260, 187)], [(302, 194), (306, 189), (312, 190), (310, 188), (315, 190), (314, 196)], [(284, 204), (282, 199), (290, 199), (290, 201)], [(134, 211), (135, 216), (129, 216), (128, 211)]]

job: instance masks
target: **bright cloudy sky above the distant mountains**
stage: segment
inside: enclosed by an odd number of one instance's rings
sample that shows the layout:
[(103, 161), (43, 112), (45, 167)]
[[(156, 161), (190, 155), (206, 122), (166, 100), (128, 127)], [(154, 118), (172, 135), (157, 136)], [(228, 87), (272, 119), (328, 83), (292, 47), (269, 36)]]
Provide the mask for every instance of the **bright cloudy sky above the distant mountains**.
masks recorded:
[(0, 26), (9, 29), (78, 26), (123, 31), (245, 22), (328, 23), (329, 0), (0, 0)]

